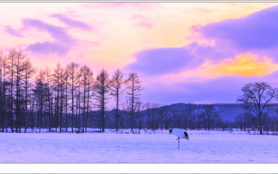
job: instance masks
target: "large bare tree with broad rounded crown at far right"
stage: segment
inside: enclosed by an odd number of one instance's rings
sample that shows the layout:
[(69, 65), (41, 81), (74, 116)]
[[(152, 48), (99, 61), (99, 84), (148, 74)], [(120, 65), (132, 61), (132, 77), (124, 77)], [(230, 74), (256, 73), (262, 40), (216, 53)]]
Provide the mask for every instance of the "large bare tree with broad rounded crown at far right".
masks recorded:
[(259, 129), (260, 134), (263, 134), (263, 124), (270, 111), (270, 104), (278, 96), (277, 88), (272, 88), (266, 82), (256, 82), (246, 84), (241, 91), (243, 95), (238, 97), (238, 102), (243, 104), (243, 108), (249, 113), (254, 126)]

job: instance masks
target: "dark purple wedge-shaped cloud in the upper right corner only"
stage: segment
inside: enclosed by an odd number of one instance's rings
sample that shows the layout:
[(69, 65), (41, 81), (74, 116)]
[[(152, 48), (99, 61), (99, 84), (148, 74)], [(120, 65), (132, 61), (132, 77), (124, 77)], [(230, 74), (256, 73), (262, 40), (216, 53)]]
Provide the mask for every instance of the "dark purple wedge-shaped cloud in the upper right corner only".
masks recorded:
[(278, 46), (278, 6), (239, 19), (207, 24), (205, 38), (231, 42), (240, 49), (270, 49)]

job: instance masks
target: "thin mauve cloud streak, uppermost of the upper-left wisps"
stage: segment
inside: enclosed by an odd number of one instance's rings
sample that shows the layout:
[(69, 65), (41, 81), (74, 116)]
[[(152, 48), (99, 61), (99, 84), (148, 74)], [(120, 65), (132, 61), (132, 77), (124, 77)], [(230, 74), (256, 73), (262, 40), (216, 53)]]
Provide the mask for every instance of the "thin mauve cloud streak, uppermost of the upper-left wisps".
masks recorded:
[(92, 28), (88, 25), (85, 24), (84, 22), (70, 19), (69, 17), (62, 15), (62, 14), (54, 14), (51, 15), (51, 17), (56, 17), (57, 19), (60, 20), (60, 22), (63, 22), (64, 24), (67, 24), (67, 26), (83, 29), (83, 30), (91, 30)]

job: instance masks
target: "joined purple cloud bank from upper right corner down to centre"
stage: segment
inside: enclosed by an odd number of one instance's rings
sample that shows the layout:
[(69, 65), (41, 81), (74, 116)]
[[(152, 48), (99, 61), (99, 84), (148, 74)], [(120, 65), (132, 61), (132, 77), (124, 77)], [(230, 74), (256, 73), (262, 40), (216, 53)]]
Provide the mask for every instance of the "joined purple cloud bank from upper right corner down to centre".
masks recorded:
[(205, 60), (218, 63), (237, 54), (251, 52), (259, 57), (268, 56), (278, 61), (278, 6), (267, 8), (239, 19), (207, 24), (199, 29), (204, 38), (215, 40), (215, 45), (142, 50), (135, 54), (136, 62), (126, 66), (141, 74), (177, 73), (197, 68)]

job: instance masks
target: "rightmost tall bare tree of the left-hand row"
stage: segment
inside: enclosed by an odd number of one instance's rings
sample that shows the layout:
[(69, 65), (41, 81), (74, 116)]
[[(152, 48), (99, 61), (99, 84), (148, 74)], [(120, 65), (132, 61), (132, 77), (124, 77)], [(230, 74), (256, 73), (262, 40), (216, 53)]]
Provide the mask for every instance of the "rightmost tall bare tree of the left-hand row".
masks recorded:
[(132, 72), (129, 74), (129, 78), (126, 82), (127, 85), (127, 95), (131, 99), (131, 132), (133, 131), (133, 117), (134, 117), (134, 105), (136, 99), (140, 96), (140, 92), (143, 89), (141, 86), (141, 81), (138, 77), (138, 74)]

